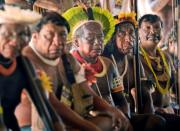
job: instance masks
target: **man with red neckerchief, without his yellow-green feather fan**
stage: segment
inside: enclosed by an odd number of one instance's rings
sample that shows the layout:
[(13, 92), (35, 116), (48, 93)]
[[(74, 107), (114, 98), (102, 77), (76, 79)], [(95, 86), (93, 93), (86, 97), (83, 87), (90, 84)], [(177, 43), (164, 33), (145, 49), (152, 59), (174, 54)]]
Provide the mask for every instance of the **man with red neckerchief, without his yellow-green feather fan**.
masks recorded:
[(113, 83), (117, 78), (116, 70), (111, 60), (100, 56), (103, 50), (101, 25), (96, 21), (87, 21), (74, 31), (74, 38), (77, 50), (72, 51), (72, 54), (85, 68), (86, 79), (90, 86), (111, 105), (114, 105), (111, 93), (119, 94), (119, 108), (128, 114), (123, 88)]

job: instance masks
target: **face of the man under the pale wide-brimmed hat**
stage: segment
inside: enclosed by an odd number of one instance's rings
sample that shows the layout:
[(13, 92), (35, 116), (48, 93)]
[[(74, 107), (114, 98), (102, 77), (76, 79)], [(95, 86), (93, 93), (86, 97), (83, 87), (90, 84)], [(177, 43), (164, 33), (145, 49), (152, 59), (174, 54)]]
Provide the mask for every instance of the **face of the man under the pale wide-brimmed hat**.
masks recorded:
[(25, 27), (17, 24), (0, 26), (0, 54), (5, 58), (15, 58), (27, 44)]

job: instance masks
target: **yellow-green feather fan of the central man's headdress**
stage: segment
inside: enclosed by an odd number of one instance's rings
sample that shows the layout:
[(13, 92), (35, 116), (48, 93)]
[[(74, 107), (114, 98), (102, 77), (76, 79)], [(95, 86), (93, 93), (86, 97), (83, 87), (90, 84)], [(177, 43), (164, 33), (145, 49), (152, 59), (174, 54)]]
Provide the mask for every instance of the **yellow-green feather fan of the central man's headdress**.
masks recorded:
[[(99, 22), (103, 27), (104, 32), (104, 43), (111, 38), (114, 28), (115, 28), (115, 22), (112, 14), (102, 8), (99, 7), (91, 7), (92, 14), (93, 14), (93, 20)], [(82, 7), (73, 7), (69, 10), (67, 10), (63, 16), (66, 18), (66, 20), (70, 24), (70, 33), (68, 35), (68, 41), (72, 41), (72, 35), (73, 32), (77, 29), (77, 26), (82, 25), (82, 23), (88, 22), (89, 18), (87, 15), (87, 12), (85, 12), (84, 8)]]

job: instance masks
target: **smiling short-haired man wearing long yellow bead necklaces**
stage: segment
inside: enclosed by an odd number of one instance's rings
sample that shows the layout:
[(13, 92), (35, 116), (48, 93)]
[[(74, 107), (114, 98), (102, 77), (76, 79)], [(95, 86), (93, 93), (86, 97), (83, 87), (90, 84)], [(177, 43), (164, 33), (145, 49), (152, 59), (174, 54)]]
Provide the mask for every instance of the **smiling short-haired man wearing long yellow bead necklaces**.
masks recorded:
[(179, 130), (180, 118), (171, 106), (170, 88), (174, 83), (173, 64), (167, 52), (157, 47), (162, 36), (162, 21), (157, 15), (147, 14), (139, 20), (141, 62), (147, 79), (153, 81), (152, 90), (155, 112), (167, 120), (167, 129)]

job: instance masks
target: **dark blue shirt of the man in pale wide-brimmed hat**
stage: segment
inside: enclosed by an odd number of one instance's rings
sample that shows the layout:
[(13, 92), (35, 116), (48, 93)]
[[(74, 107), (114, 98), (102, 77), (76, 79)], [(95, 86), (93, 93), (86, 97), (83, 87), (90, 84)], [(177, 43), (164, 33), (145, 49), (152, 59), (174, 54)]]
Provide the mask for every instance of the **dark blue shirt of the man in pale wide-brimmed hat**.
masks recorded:
[[(2, 56), (0, 57), (0, 61)], [(0, 74), (0, 97), (3, 107), (3, 117), (7, 128), (19, 131), (19, 126), (14, 115), (16, 106), (20, 103), (21, 92), (27, 88), (27, 80), (23, 74), (19, 58), (17, 58), (15, 71), (9, 76)], [(0, 63), (3, 65), (2, 63)], [(28, 89), (28, 88), (27, 88)]]

